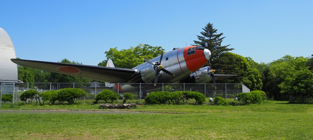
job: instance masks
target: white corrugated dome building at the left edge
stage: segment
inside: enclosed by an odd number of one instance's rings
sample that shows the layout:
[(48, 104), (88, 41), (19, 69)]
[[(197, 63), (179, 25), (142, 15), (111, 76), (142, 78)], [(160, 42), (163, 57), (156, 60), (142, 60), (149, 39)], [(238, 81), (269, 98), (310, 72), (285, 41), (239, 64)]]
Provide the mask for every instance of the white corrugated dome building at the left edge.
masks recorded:
[(18, 80), (18, 67), (11, 58), (16, 58), (12, 40), (8, 33), (0, 28), (0, 83), (21, 83)]

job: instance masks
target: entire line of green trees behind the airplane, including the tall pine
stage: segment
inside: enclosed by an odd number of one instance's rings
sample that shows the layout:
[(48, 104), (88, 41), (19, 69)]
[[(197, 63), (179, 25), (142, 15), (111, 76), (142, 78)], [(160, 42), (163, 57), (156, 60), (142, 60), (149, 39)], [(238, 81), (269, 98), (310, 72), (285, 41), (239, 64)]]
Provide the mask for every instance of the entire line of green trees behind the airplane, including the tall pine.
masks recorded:
[[(217, 80), (217, 83), (242, 83), (250, 90), (262, 90), (268, 98), (275, 100), (289, 100), (290, 96), (298, 100), (312, 98), (313, 96), (313, 55), (311, 57), (293, 57), (286, 55), (269, 63), (257, 63), (251, 57), (229, 52), (234, 48), (230, 45), (222, 46), (223, 33), (208, 23), (198, 41), (193, 46), (201, 46), (211, 51), (211, 65), (213, 69), (222, 69), (218, 74), (238, 75), (229, 79)], [(152, 59), (161, 55), (164, 49), (161, 46), (139, 44), (129, 49), (118, 50), (117, 47), (105, 51), (106, 58), (112, 58), (116, 67), (133, 68), (144, 62), (142, 58)], [(62, 59), (59, 62), (81, 64)], [(106, 66), (107, 60), (98, 65)], [(207, 63), (205, 66), (209, 66)], [(43, 70), (34, 70), (18, 65), (18, 79), (29, 83), (88, 83), (89, 79), (62, 75)]]

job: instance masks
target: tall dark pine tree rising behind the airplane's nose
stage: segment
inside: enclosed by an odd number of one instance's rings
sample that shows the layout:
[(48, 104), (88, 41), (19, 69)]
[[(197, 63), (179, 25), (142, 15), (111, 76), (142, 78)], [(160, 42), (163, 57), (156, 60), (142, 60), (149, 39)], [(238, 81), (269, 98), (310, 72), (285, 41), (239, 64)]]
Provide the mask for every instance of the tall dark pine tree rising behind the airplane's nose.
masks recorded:
[(226, 37), (221, 37), (223, 33), (217, 34), (217, 29), (213, 28), (213, 23), (208, 23), (200, 32), (202, 36), (197, 36), (199, 41), (193, 41), (194, 46), (201, 46), (211, 51), (211, 59), (220, 57), (226, 51), (232, 51), (234, 48), (227, 48), (229, 45), (222, 46), (222, 41)]

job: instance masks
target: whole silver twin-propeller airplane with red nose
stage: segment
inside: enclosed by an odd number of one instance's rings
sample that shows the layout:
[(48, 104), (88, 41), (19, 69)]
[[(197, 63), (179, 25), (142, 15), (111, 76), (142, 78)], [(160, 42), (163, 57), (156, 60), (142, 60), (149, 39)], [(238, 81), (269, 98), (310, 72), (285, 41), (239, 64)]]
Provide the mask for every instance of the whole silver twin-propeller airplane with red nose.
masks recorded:
[[(187, 46), (174, 48), (164, 54), (162, 52), (160, 56), (151, 60), (144, 59), (144, 63), (132, 69), (116, 68), (112, 59), (108, 60), (106, 67), (22, 59), (11, 59), (11, 61), (33, 69), (106, 82), (106, 87), (103, 89), (109, 88), (113, 91), (122, 92), (123, 90), (137, 90), (138, 86), (134, 86), (134, 83), (142, 83), (143, 85), (154, 83), (155, 88), (158, 88), (157, 83), (208, 83), (213, 80), (215, 84), (215, 79), (236, 76), (214, 75), (214, 72), (223, 70), (213, 70), (210, 58), (211, 52), (208, 49), (199, 46)], [(210, 66), (203, 67), (207, 62)], [(139, 92), (141, 90), (139, 89)]]

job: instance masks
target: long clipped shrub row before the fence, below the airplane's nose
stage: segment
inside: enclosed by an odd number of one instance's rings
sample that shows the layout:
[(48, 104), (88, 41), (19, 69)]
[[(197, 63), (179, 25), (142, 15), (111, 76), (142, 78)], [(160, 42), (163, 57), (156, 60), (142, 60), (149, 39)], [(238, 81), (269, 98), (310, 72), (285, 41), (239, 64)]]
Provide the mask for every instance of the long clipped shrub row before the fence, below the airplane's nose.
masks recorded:
[(146, 104), (185, 104), (189, 99), (194, 99), (195, 104), (203, 104), (204, 94), (195, 91), (176, 92), (151, 92), (145, 98)]

